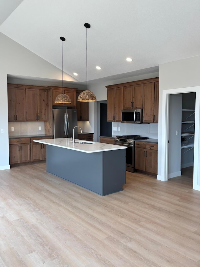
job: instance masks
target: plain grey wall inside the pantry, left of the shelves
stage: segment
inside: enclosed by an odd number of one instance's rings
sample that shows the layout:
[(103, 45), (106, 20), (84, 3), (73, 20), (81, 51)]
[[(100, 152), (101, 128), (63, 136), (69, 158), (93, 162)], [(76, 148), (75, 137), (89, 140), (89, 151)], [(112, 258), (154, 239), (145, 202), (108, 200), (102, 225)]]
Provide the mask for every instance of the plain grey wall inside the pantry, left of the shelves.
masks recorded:
[(168, 178), (181, 175), (181, 119), (182, 94), (170, 95)]

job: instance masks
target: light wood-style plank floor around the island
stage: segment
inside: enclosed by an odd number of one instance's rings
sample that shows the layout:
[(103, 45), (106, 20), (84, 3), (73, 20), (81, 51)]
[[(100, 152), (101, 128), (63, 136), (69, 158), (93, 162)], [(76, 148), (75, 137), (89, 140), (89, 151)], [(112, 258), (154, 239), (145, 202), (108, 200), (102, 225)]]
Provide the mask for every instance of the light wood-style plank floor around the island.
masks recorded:
[(200, 266), (200, 192), (187, 172), (127, 172), (123, 189), (98, 196), (46, 163), (0, 171), (0, 266)]

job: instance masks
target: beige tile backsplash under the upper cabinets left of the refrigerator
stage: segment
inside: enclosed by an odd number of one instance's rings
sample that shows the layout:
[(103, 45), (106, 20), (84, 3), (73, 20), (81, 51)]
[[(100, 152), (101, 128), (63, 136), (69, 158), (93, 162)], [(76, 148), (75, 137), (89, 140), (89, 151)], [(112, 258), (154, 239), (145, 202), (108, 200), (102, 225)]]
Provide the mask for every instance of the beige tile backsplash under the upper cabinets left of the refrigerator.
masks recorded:
[[(39, 126), (41, 130), (39, 130)], [(12, 127), (14, 131), (12, 131)], [(20, 121), (8, 122), (9, 136), (44, 134), (44, 121)]]

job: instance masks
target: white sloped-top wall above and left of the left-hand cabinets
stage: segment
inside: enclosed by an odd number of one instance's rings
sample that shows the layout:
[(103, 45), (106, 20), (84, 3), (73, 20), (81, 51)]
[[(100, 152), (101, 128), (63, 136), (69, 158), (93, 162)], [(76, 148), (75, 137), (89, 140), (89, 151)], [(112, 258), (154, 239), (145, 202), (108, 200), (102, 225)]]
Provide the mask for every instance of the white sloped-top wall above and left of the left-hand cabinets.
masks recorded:
[[(4, 129), (0, 134), (0, 170), (10, 167), (7, 74), (62, 80), (60, 69), (0, 33), (0, 129)], [(64, 77), (76, 81), (67, 74)]]

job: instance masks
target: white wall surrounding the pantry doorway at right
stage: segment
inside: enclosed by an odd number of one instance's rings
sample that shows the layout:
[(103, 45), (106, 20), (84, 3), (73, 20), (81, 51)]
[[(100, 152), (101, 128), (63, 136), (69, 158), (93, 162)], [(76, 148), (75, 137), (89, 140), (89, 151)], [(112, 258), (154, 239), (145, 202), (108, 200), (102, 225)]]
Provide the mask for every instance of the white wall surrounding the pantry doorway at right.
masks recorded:
[[(158, 118), (158, 176), (157, 178), (160, 180), (165, 179), (165, 174), (162, 172), (162, 169), (165, 169), (165, 140), (162, 136), (165, 136), (164, 125), (165, 121), (165, 105), (166, 99), (164, 97), (163, 91), (170, 90), (173, 93), (176, 93), (177, 88), (188, 88), (188, 92), (192, 90), (193, 86), (200, 86), (200, 56), (182, 59), (174, 62), (169, 62), (166, 64), (161, 64), (159, 69), (159, 118)], [(186, 90), (187, 91), (187, 90)], [(198, 92), (198, 88), (194, 88), (196, 91), (196, 116), (199, 116), (199, 102), (200, 102), (200, 94)], [(198, 104), (198, 106), (197, 106)], [(163, 108), (164, 107), (164, 108)], [(195, 124), (195, 138), (199, 142), (199, 129), (196, 129), (198, 125)], [(198, 136), (196, 136), (196, 130)], [(197, 150), (197, 157), (199, 155), (199, 150)], [(199, 160), (199, 157), (198, 157)], [(199, 162), (197, 162), (199, 164)], [(197, 184), (195, 189), (199, 188), (200, 178), (197, 177)], [(194, 185), (193, 185), (194, 188)], [(199, 190), (199, 189), (198, 189)]]

